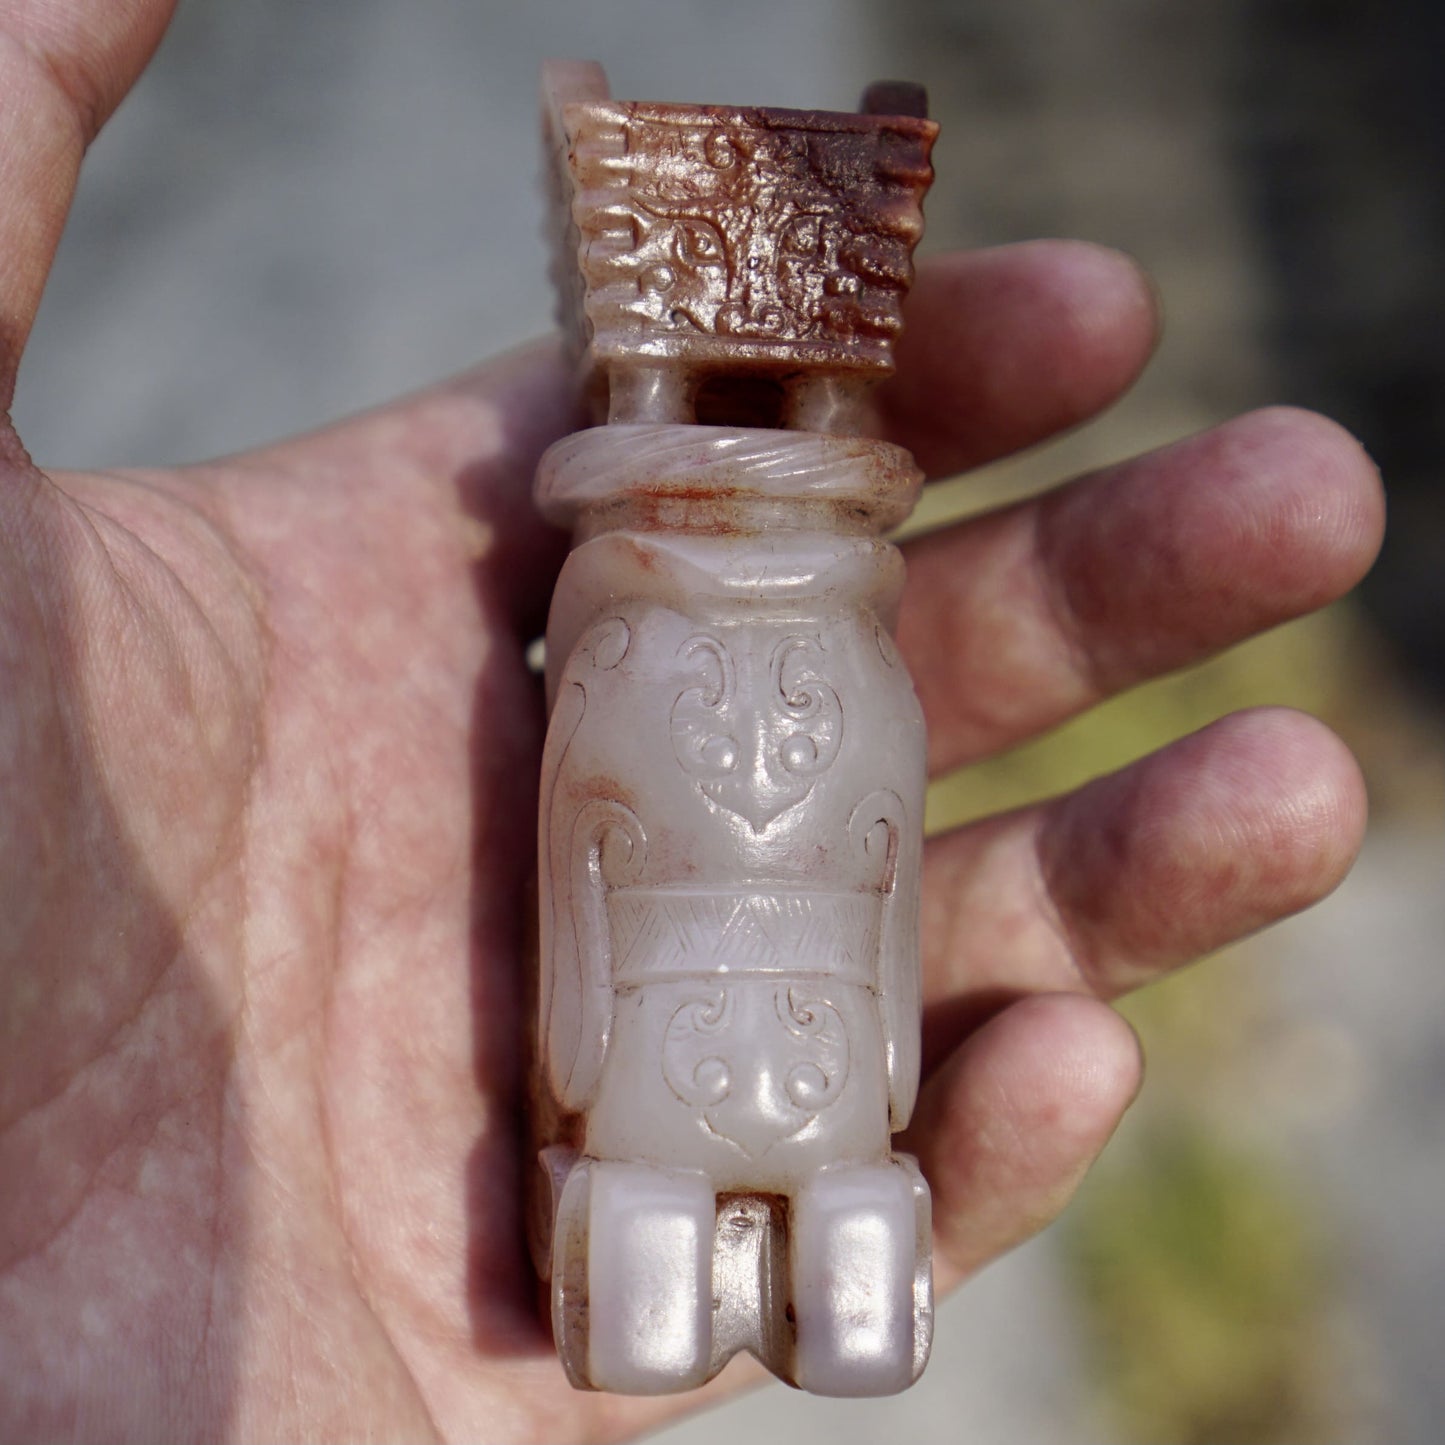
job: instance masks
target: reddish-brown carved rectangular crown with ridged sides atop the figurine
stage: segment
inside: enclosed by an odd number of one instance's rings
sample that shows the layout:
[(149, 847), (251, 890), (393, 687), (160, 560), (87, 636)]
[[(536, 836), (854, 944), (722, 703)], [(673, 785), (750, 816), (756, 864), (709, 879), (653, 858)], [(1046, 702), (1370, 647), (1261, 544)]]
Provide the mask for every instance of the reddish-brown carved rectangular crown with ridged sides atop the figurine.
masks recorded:
[[(932, 121), (616, 101), (575, 62), (545, 90), (555, 279), (585, 371), (892, 368)], [(883, 85), (866, 105), (920, 98)]]

